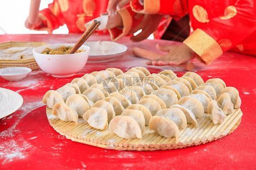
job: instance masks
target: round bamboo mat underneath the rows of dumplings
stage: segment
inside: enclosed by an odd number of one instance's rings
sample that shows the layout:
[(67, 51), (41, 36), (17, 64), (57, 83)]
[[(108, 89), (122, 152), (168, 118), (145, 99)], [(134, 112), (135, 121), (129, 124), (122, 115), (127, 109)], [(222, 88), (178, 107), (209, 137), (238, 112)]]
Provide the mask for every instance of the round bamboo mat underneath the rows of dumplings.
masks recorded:
[(67, 139), (87, 145), (97, 146), (113, 150), (171, 150), (193, 145), (205, 144), (207, 142), (223, 138), (232, 133), (241, 122), (243, 113), (241, 109), (235, 110), (233, 114), (227, 115), (221, 124), (214, 125), (209, 115), (197, 119), (195, 128), (188, 124), (186, 129), (179, 131), (179, 139), (164, 138), (152, 130), (146, 131), (142, 139), (123, 139), (109, 130), (97, 130), (79, 118), (78, 123), (62, 121), (52, 115), (52, 110), (46, 107), (46, 115), (50, 125)]

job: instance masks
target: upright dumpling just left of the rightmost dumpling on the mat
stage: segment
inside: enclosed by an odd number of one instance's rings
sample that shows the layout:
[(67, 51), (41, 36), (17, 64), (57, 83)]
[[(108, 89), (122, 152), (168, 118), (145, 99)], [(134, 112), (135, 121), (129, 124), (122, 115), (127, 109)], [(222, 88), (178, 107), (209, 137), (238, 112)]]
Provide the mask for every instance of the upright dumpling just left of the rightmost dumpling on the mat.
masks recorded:
[(234, 113), (234, 105), (231, 102), (230, 94), (223, 93), (220, 95), (219, 99), (217, 100), (218, 105), (223, 110), (226, 115), (230, 115)]

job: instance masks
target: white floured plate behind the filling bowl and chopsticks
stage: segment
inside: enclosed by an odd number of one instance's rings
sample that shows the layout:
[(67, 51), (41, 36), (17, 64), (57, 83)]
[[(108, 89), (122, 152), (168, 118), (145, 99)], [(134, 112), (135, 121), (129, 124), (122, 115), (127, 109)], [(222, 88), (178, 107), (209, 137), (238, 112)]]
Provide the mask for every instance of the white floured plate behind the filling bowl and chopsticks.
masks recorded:
[(106, 62), (123, 55), (128, 47), (112, 41), (88, 41), (84, 43), (91, 48), (88, 62)]

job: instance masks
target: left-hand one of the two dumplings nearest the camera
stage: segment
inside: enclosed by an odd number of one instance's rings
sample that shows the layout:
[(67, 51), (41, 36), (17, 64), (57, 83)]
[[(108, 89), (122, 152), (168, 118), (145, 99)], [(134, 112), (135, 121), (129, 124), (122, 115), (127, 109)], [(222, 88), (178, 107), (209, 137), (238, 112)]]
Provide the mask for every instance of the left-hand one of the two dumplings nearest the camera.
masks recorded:
[(142, 131), (130, 116), (116, 116), (109, 123), (109, 130), (124, 139), (142, 138)]

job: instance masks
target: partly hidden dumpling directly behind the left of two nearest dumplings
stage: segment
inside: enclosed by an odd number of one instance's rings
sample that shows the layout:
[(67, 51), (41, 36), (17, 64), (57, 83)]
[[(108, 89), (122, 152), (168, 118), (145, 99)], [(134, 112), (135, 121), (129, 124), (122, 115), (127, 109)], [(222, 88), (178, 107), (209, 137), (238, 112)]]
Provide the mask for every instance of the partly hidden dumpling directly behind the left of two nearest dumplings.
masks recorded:
[(141, 111), (126, 109), (126, 110), (123, 111), (123, 113), (121, 115), (132, 117), (138, 123), (138, 125), (141, 129), (141, 132), (143, 133), (145, 131), (145, 129), (146, 129), (146, 127), (145, 127), (145, 118), (144, 118), (144, 115)]

